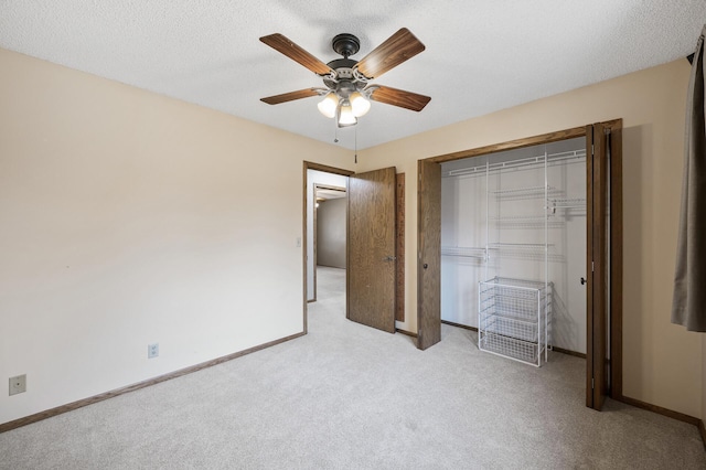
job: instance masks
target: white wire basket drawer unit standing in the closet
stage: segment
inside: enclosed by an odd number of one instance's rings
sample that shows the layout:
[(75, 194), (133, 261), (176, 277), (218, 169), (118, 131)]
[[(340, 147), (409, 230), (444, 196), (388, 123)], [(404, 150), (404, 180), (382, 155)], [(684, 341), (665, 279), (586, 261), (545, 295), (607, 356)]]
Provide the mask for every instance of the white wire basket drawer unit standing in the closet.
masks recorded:
[(552, 282), (495, 277), (478, 289), (478, 348), (535, 366), (552, 344)]

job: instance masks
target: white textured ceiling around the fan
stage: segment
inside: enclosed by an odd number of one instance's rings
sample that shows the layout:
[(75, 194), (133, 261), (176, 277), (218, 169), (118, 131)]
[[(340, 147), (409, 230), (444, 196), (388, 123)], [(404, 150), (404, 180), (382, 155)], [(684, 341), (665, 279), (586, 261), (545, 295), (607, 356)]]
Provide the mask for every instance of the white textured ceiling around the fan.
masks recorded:
[(431, 102), (373, 103), (338, 130), (362, 149), (684, 57), (704, 22), (704, 0), (0, 0), (0, 47), (333, 142), (318, 98), (259, 100), (321, 81), (258, 39), (329, 62), (353, 33), (360, 60), (406, 26), (426, 51), (373, 83)]

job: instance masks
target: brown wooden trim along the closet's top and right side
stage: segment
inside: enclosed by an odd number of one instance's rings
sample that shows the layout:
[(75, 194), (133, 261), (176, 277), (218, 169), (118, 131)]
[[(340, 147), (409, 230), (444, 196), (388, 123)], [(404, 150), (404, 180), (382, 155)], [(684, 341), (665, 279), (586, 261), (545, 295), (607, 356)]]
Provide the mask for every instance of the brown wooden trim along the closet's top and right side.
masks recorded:
[[(613, 119), (600, 122), (603, 128), (610, 129), (610, 394), (613, 399), (623, 399), (622, 395), (622, 119)], [(471, 157), (480, 157), (503, 150), (514, 150), (523, 147), (550, 143), (560, 140), (586, 138), (587, 126), (574, 127), (555, 132), (543, 133), (506, 142), (494, 143), (491, 146), (479, 147), (475, 149), (462, 150), (453, 153), (446, 153), (437, 157), (422, 159), (421, 161), (441, 164), (443, 162), (461, 160)], [(588, 151), (588, 149), (587, 149)], [(588, 189), (587, 189), (588, 191)], [(586, 221), (587, 225), (592, 221)], [(418, 234), (417, 239), (421, 234)], [(419, 250), (419, 247), (417, 247)], [(419, 273), (417, 273), (419, 279)], [(421, 306), (417, 306), (420, 309)], [(590, 312), (587, 311), (587, 323)], [(417, 312), (418, 318), (424, 312)], [(589, 338), (592, 342), (592, 338)], [(587, 344), (588, 348), (588, 344)], [(588, 365), (587, 365), (588, 368)], [(588, 371), (587, 371), (588, 373)]]

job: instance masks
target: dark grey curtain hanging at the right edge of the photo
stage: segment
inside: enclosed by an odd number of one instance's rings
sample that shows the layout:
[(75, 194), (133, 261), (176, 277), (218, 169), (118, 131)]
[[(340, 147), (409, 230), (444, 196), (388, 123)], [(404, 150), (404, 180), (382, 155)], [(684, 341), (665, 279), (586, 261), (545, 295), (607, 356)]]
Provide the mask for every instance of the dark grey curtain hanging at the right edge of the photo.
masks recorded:
[(682, 209), (672, 299), (672, 323), (706, 332), (706, 126), (704, 35), (696, 44), (686, 98)]

